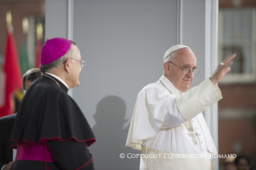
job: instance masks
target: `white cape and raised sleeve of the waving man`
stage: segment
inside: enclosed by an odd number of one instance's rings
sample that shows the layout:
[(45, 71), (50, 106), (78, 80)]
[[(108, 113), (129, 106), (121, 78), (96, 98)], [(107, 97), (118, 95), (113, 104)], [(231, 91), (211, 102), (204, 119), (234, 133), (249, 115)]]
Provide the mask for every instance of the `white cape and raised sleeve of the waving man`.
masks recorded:
[(210, 79), (178, 96), (167, 93), (161, 84), (149, 84), (137, 96), (126, 145), (141, 149), (144, 140), (160, 129), (193, 119), (219, 99), (221, 91)]

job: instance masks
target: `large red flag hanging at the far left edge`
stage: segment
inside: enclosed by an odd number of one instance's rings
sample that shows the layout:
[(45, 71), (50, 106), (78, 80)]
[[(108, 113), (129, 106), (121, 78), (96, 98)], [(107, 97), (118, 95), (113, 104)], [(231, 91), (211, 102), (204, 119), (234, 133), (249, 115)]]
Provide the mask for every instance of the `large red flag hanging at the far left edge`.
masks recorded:
[(6, 75), (3, 81), (5, 84), (4, 105), (0, 106), (0, 117), (14, 113), (12, 101), (12, 93), (22, 88), (22, 75), (18, 63), (18, 55), (14, 42), (13, 31), (8, 29), (6, 40), (6, 54), (3, 66), (3, 72)]

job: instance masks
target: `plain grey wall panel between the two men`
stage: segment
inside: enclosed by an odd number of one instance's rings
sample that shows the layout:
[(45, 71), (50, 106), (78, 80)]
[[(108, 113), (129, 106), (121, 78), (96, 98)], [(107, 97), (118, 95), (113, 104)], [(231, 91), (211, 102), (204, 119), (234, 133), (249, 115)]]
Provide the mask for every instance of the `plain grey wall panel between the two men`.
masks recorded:
[(74, 1), (74, 40), (86, 63), (73, 97), (95, 132), (95, 169), (139, 169), (139, 158), (120, 153), (140, 153), (124, 146), (136, 95), (161, 77), (176, 22), (176, 1)]

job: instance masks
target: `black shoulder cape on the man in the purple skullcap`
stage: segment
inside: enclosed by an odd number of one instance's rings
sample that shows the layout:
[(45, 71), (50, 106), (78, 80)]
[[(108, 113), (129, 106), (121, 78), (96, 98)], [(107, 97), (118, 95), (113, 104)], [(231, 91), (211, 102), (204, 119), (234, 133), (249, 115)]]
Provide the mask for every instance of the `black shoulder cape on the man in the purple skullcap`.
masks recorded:
[(95, 142), (83, 112), (67, 95), (67, 87), (51, 78), (36, 79), (24, 95), (10, 136), (11, 148), (46, 140), (75, 140), (87, 146)]

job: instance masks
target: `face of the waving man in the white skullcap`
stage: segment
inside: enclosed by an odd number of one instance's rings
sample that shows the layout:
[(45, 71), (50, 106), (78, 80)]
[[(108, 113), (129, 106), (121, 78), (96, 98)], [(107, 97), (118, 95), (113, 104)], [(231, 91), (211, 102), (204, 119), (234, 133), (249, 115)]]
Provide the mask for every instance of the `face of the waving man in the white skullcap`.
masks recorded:
[[(190, 70), (197, 67), (197, 58), (189, 49), (184, 48), (174, 52), (176, 52), (177, 57), (175, 57), (171, 62), (177, 66), (181, 68), (189, 68)], [(181, 68), (175, 66), (173, 63), (169, 63), (169, 75), (166, 77), (180, 91), (188, 91), (193, 81), (193, 72), (190, 71), (185, 74)]]

